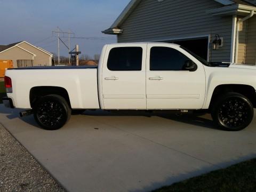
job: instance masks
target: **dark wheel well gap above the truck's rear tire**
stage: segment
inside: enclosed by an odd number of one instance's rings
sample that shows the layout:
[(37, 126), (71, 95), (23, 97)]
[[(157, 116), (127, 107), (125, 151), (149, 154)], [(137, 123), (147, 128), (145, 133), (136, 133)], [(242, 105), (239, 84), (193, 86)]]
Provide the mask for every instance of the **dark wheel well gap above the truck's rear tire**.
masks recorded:
[(38, 99), (40, 99), (41, 97), (43, 97), (45, 95), (49, 95), (49, 94), (60, 95), (61, 97), (63, 97), (67, 101), (69, 107), (71, 108), (71, 104), (70, 104), (69, 95), (68, 95), (67, 90), (62, 88), (62, 87), (56, 87), (56, 86), (37, 86), (37, 87), (33, 87), (30, 90), (30, 94), (29, 94), (30, 106), (33, 108), (33, 106), (38, 101)]

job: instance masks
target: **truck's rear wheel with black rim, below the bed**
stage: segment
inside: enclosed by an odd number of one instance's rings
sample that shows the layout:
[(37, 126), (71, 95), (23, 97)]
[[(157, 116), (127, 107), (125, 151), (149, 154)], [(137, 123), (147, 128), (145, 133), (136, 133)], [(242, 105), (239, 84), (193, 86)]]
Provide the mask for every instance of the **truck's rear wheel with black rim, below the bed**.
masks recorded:
[(71, 116), (67, 101), (60, 95), (42, 97), (37, 101), (33, 111), (36, 122), (45, 130), (60, 129)]

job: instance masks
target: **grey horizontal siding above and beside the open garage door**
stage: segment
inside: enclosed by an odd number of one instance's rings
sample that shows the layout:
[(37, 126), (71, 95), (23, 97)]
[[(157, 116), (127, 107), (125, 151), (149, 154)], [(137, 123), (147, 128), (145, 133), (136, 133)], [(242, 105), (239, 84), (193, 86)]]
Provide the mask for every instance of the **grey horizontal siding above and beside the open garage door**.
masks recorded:
[(151, 42), (197, 36), (223, 37), (223, 47), (209, 50), (210, 61), (230, 61), (233, 18), (217, 17), (206, 10), (222, 7), (212, 0), (142, 0), (120, 26), (118, 42)]

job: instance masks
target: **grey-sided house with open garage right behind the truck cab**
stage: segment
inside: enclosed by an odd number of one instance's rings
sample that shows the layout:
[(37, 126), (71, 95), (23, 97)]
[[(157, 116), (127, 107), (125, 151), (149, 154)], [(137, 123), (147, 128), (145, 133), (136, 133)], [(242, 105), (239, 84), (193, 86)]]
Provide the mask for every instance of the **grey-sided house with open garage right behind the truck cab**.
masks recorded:
[(255, 15), (256, 0), (132, 0), (102, 33), (118, 43), (177, 43), (208, 61), (256, 65)]

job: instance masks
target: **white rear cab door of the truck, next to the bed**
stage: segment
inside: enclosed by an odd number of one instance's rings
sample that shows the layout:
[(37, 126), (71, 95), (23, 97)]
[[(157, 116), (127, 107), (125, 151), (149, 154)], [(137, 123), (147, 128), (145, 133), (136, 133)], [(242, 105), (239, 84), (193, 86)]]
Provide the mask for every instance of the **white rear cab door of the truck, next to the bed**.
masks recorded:
[(105, 109), (146, 109), (147, 44), (108, 45), (102, 66)]

